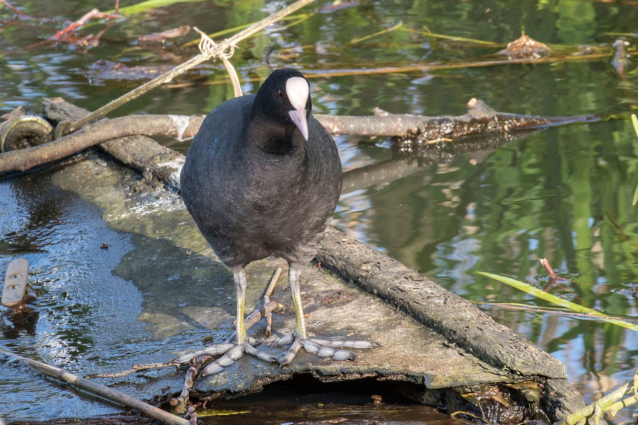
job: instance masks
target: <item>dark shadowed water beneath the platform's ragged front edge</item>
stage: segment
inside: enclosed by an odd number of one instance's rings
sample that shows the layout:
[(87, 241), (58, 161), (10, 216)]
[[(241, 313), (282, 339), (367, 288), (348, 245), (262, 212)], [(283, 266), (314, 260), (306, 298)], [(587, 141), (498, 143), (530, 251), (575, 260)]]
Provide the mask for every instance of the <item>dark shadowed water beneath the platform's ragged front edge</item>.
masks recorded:
[[(415, 388), (412, 388), (415, 387)], [(416, 385), (373, 378), (322, 382), (297, 375), (285, 382), (265, 385), (262, 391), (232, 399), (214, 399), (198, 409), (200, 424), (279, 425), (353, 424), (418, 425), (457, 424), (436, 410), (434, 403), (413, 398)], [(197, 397), (195, 398), (197, 399)], [(110, 415), (86, 419), (11, 421), (13, 425), (145, 425), (156, 424), (138, 415)]]

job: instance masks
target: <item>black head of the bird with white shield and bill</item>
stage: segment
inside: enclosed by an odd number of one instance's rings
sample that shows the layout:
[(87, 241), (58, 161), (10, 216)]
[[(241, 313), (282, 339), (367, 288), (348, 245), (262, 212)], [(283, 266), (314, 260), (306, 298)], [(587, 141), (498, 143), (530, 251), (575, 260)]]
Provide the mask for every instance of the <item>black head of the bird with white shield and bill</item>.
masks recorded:
[(308, 80), (297, 70), (276, 70), (259, 87), (253, 116), (279, 124), (295, 124), (308, 140), (308, 116), (313, 104)]

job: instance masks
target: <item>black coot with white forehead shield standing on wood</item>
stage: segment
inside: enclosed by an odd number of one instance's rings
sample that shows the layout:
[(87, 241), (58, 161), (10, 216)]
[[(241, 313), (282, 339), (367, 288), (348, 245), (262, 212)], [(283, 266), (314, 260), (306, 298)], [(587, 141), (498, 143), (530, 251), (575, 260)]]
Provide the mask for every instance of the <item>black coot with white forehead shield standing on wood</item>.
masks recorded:
[[(184, 204), (237, 290), (235, 342), (206, 348), (222, 357), (204, 373), (218, 373), (242, 353), (288, 364), (297, 351), (334, 360), (355, 359), (339, 348), (371, 348), (367, 341), (311, 338), (300, 297), (302, 265), (316, 253), (341, 193), (336, 144), (310, 115), (308, 80), (296, 70), (276, 70), (257, 94), (225, 101), (206, 117), (181, 172)], [(244, 329), (249, 263), (270, 256), (288, 262), (297, 325), (279, 340), (290, 344), (279, 359), (256, 350)]]

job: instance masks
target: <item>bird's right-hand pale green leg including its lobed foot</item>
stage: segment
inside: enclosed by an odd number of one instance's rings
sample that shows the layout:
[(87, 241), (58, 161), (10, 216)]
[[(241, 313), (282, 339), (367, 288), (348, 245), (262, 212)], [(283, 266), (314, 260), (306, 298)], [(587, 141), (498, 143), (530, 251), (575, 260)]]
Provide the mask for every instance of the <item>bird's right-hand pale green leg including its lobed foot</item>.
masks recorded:
[(306, 319), (304, 318), (304, 308), (301, 304), (301, 267), (295, 264), (288, 265), (288, 285), (290, 285), (290, 292), (292, 292), (292, 302), (295, 306), (295, 315), (297, 317), (297, 324), (295, 325), (295, 332), (288, 338), (281, 338), (278, 344), (292, 343), (290, 348), (279, 358), (279, 364), (281, 366), (289, 364), (295, 355), (299, 351), (299, 348), (304, 347), (304, 350), (308, 353), (315, 353), (317, 357), (327, 358), (332, 360), (357, 360), (357, 356), (348, 350), (340, 350), (339, 348), (373, 348), (378, 344), (369, 341), (348, 341), (348, 340), (330, 340), (322, 338), (310, 338), (308, 332), (306, 332)]

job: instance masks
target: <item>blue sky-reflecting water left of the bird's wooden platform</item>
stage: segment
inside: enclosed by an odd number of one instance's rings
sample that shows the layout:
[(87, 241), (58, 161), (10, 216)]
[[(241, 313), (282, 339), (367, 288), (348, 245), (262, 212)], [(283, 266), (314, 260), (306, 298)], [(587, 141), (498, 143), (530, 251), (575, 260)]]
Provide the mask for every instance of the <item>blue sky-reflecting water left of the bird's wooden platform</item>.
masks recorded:
[[(132, 286), (111, 275), (119, 260), (117, 252), (130, 249), (128, 236), (108, 230), (100, 211), (51, 184), (50, 173), (0, 182), (0, 211), (0, 247), (6, 248), (0, 252), (0, 270), (4, 274), (13, 258), (26, 258), (29, 284), (39, 295), (31, 313), (1, 308), (0, 346), (82, 375), (81, 369), (97, 354), (96, 340), (119, 339), (135, 319), (132, 288), (127, 295), (133, 302), (132, 317), (100, 317), (103, 313), (93, 308), (114, 302), (115, 293)], [(114, 257), (100, 249), (103, 241), (108, 241)], [(110, 406), (60, 392), (22, 368), (4, 365), (2, 369), (3, 417), (114, 412)]]

